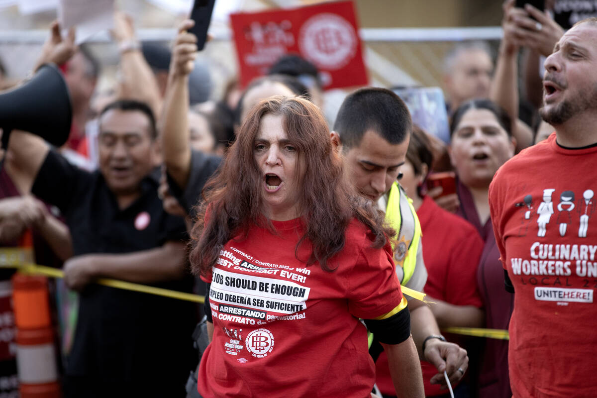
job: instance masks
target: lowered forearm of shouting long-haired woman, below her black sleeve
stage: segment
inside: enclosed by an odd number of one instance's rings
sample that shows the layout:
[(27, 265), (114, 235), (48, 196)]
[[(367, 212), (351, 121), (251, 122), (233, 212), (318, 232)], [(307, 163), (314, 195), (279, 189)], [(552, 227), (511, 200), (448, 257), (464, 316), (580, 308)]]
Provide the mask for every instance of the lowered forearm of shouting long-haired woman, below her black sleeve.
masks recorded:
[(425, 396), (421, 363), (413, 337), (400, 344), (381, 343), (387, 354), (390, 376), (398, 397), (422, 398)]

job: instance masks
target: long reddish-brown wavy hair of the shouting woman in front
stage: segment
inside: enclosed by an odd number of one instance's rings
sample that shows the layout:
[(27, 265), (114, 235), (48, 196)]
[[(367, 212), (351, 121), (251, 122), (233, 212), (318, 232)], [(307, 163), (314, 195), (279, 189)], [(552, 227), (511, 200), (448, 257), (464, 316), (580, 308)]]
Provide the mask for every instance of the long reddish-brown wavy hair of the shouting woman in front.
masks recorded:
[[(318, 107), (300, 97), (277, 96), (261, 101), (251, 110), (230, 147), (219, 172), (203, 191), (192, 237), (190, 261), (193, 273), (208, 274), (220, 250), (235, 236), (247, 236), (252, 224), (273, 226), (263, 217), (263, 175), (254, 156), (255, 139), (265, 115), (281, 115), (288, 140), (297, 150), (298, 199), (304, 236), (298, 248), (311, 249), (309, 264), (319, 263), (333, 271), (333, 257), (344, 247), (344, 233), (353, 218), (370, 230), (372, 246), (381, 248), (394, 231), (370, 200), (359, 196), (346, 180), (340, 154), (332, 146), (330, 132)], [(207, 211), (207, 218), (205, 212)]]

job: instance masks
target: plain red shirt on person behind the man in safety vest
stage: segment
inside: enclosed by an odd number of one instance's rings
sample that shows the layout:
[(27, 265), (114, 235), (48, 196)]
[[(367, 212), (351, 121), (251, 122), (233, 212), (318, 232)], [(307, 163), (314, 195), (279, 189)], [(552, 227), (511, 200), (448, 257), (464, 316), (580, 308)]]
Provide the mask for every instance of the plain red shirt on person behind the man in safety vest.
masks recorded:
[[(475, 227), (455, 214), (445, 211), (429, 196), (417, 210), (423, 237), (423, 258), (427, 268), (425, 293), (432, 298), (457, 306), (481, 307), (477, 290), (476, 269), (483, 250), (483, 241)], [(438, 384), (429, 380), (438, 373), (435, 366), (421, 361), (425, 396), (443, 395)], [(376, 362), (376, 382), (381, 393), (395, 391), (387, 366), (387, 356), (381, 353)]]

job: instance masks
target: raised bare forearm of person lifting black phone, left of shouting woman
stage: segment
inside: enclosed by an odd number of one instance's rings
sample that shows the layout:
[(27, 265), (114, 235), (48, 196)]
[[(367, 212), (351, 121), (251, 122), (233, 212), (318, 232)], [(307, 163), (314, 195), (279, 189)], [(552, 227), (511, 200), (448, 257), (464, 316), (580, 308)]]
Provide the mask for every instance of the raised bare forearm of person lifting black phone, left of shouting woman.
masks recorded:
[(160, 121), (162, 151), (168, 174), (184, 189), (190, 173), (189, 77), (168, 78), (164, 110)]

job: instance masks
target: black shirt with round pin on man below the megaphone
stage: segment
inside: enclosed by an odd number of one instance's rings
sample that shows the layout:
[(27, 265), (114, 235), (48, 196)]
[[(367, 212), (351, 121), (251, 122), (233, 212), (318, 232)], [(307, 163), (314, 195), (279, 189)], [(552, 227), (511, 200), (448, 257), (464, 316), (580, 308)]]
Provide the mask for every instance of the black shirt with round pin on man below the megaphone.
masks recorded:
[[(158, 198), (156, 172), (141, 182), (141, 196), (119, 209), (101, 173), (70, 165), (50, 151), (32, 192), (60, 208), (75, 255), (124, 254), (186, 239), (184, 222), (167, 214)], [(192, 277), (158, 283), (190, 292)], [(79, 298), (75, 341), (67, 375), (184, 382), (192, 367), (196, 306), (173, 298), (88, 285)], [(172, 396), (174, 396), (173, 394)]]

